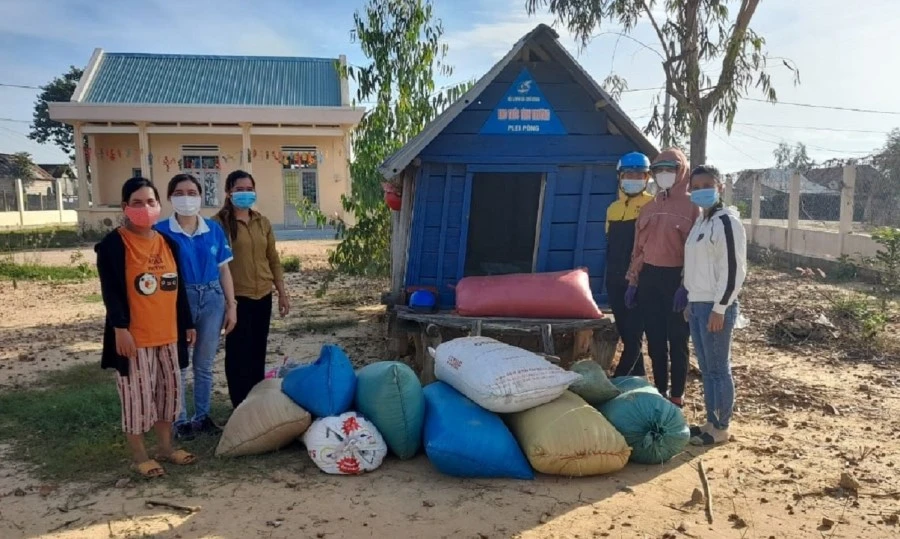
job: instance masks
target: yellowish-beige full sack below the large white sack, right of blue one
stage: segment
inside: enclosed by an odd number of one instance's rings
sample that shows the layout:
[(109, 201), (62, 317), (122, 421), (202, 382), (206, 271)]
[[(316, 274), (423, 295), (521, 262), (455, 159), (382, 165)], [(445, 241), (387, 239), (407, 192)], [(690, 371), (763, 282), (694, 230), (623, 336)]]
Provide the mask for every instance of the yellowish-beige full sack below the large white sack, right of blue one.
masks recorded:
[(615, 472), (631, 454), (615, 427), (571, 391), (506, 419), (528, 462), (541, 473), (572, 477)]

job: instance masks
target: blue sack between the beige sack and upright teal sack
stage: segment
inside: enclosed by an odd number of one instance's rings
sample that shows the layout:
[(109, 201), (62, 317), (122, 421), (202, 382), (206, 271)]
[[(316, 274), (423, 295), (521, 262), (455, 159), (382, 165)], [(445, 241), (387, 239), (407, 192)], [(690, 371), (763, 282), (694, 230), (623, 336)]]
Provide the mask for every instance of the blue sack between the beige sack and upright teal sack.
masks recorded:
[(356, 373), (341, 347), (326, 344), (315, 363), (287, 373), (281, 391), (316, 417), (341, 415), (353, 406)]

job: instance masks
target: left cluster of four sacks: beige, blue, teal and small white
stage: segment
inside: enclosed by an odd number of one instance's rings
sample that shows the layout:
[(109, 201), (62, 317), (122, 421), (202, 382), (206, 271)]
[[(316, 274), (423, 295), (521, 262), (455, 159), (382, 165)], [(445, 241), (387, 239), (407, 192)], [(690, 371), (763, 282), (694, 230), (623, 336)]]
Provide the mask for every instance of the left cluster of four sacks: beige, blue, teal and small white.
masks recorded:
[(314, 363), (257, 384), (225, 425), (216, 455), (265, 453), (301, 438), (321, 470), (359, 474), (378, 468), (388, 450), (415, 456), (424, 409), (422, 386), (407, 365), (382, 361), (354, 371), (329, 344)]

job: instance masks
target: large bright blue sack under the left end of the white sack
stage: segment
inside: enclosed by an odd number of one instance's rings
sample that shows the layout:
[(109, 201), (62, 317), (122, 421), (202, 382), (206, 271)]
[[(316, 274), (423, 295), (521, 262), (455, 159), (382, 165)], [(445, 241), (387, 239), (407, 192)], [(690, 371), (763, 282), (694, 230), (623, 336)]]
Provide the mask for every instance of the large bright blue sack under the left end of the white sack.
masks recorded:
[(435, 382), (425, 388), (425, 453), (456, 477), (534, 479), (534, 471), (500, 416)]

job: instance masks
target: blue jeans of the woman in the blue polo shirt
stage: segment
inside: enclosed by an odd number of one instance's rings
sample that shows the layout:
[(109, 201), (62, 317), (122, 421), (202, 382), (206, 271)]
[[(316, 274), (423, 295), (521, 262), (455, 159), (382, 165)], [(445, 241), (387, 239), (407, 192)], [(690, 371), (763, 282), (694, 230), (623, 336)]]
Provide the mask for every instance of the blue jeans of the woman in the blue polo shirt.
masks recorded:
[(225, 294), (218, 281), (186, 285), (191, 315), (197, 328), (197, 340), (191, 353), (191, 367), (181, 370), (181, 414), (176, 425), (188, 422), (185, 405), (188, 370), (194, 371), (194, 418), (201, 421), (209, 416), (212, 398), (213, 363), (219, 348), (219, 334), (225, 321)]

